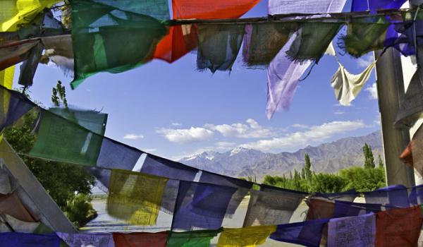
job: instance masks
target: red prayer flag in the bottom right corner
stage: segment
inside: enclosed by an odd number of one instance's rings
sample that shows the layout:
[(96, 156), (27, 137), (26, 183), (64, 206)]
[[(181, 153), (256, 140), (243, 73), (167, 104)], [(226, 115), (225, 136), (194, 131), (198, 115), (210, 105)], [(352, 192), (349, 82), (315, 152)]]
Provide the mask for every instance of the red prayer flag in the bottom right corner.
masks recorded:
[(422, 207), (396, 208), (376, 214), (375, 246), (417, 246)]

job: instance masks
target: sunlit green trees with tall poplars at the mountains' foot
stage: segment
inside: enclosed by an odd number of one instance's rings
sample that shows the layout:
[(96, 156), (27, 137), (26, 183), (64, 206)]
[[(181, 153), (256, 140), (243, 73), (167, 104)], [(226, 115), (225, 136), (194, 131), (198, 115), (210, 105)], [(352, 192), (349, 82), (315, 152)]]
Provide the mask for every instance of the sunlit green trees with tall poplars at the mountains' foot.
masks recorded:
[(309, 155), (305, 154), (305, 166), (301, 173), (294, 170), (290, 176), (264, 176), (264, 184), (305, 192), (338, 193), (355, 189), (359, 192), (374, 191), (386, 186), (384, 163), (379, 155), (375, 167), (372, 147), (363, 146), (364, 166), (341, 169), (338, 174), (315, 174), (311, 171)]

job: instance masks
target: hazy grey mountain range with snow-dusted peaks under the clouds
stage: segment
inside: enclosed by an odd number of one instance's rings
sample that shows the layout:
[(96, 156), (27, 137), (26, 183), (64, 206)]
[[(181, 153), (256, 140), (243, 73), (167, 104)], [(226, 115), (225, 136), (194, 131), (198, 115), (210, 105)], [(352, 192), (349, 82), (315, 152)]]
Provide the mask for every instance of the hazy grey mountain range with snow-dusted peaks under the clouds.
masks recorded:
[(199, 155), (184, 157), (179, 162), (219, 174), (235, 177), (255, 176), (261, 181), (266, 174), (272, 176), (289, 175), (290, 171), (300, 171), (304, 167), (307, 153), (316, 172), (335, 173), (352, 166), (362, 166), (362, 147), (367, 143), (372, 147), (374, 161), (383, 156), (381, 131), (364, 136), (342, 138), (316, 147), (307, 146), (296, 152), (269, 153), (259, 150), (235, 147), (228, 152), (202, 152)]

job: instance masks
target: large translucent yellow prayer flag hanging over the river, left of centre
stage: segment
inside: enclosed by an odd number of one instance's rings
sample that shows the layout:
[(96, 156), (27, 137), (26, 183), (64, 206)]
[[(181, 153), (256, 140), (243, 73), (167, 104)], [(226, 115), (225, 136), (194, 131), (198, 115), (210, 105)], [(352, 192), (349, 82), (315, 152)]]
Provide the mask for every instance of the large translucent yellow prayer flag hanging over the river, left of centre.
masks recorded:
[(156, 224), (168, 179), (140, 172), (113, 169), (107, 212), (129, 224)]

